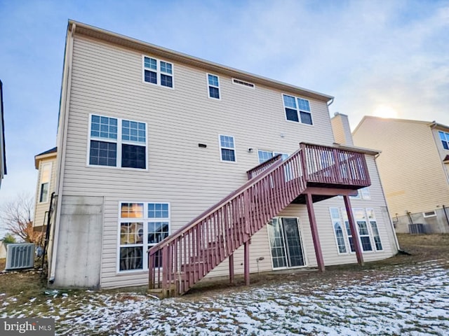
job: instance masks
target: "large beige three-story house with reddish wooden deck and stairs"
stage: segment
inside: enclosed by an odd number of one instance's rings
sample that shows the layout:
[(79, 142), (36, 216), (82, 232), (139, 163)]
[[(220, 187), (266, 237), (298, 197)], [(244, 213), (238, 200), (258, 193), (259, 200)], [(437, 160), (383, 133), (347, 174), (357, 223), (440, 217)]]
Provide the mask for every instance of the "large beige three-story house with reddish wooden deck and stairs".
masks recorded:
[(61, 97), (54, 286), (184, 293), (398, 251), (377, 151), (335, 144), (327, 94), (69, 21)]

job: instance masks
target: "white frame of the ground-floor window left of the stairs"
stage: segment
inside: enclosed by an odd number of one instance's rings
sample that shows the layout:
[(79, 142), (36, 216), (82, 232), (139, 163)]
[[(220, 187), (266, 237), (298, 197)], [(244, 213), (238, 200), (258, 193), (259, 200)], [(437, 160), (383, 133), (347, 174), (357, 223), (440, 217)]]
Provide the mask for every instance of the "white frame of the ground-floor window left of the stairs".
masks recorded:
[[(143, 217), (142, 218), (132, 218), (132, 217), (121, 217), (121, 206), (122, 204), (143, 204)], [(168, 217), (161, 218), (150, 218), (148, 216), (148, 205), (149, 204), (167, 204), (168, 205)], [(148, 253), (147, 251), (151, 246), (156, 244), (148, 244), (148, 224), (151, 222), (168, 222), (168, 237), (171, 235), (171, 207), (170, 202), (151, 202), (151, 201), (120, 201), (119, 202), (119, 211), (118, 211), (118, 233), (117, 233), (117, 257), (116, 257), (116, 273), (117, 274), (130, 274), (130, 273), (139, 273), (139, 272), (148, 272)], [(142, 244), (121, 244), (121, 223), (128, 223), (130, 221), (133, 222), (141, 222), (143, 223), (143, 241)], [(139, 247), (142, 246), (142, 268), (141, 269), (123, 269), (120, 270), (120, 249), (122, 247)]]

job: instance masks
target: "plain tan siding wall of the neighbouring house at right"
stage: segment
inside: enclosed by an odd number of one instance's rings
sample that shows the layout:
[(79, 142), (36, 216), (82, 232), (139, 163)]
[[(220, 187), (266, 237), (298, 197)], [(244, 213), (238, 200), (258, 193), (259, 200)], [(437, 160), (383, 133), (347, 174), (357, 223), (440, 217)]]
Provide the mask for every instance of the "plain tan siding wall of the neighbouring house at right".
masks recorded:
[(356, 146), (377, 148), (391, 216), (424, 212), (449, 203), (449, 188), (427, 123), (366, 117), (354, 132)]

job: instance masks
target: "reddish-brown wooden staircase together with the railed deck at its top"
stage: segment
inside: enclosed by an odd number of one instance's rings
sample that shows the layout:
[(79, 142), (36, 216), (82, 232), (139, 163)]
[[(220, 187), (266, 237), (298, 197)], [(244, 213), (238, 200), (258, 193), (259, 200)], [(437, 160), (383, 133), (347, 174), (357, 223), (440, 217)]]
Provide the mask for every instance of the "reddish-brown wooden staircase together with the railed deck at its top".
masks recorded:
[(247, 174), (241, 188), (149, 249), (150, 291), (182, 295), (226, 258), (233, 262), (234, 251), (309, 186), (370, 185), (363, 153), (303, 143), (285, 161), (277, 155)]

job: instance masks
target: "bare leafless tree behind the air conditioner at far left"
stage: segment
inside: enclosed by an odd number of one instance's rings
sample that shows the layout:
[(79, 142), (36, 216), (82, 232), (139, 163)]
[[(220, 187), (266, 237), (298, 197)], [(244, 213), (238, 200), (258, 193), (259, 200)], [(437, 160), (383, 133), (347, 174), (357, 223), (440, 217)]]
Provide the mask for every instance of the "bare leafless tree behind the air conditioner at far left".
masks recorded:
[(22, 193), (0, 208), (0, 221), (4, 228), (20, 240), (39, 243), (41, 232), (34, 232), (32, 214), (34, 198)]

